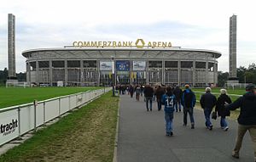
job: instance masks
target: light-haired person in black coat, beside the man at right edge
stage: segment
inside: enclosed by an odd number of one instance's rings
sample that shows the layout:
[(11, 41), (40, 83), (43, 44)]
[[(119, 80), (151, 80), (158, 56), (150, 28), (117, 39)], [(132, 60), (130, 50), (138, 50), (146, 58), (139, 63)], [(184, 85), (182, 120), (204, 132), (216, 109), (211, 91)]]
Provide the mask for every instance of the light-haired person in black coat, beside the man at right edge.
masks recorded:
[(227, 90), (221, 89), (220, 96), (217, 99), (215, 111), (220, 116), (220, 126), (224, 131), (228, 131), (229, 126), (226, 121), (226, 116), (230, 116), (230, 109), (226, 109), (224, 104), (232, 103), (230, 97), (227, 95)]

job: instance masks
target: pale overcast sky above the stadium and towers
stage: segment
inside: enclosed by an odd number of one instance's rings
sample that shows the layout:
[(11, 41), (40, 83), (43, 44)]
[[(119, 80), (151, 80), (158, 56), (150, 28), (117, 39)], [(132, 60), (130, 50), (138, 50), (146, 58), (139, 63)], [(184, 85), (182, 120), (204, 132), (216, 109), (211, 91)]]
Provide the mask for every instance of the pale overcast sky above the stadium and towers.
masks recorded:
[(229, 22), (237, 15), (237, 66), (256, 63), (254, 0), (4, 0), (0, 5), (0, 70), (7, 67), (8, 14), (16, 18), (16, 69), (21, 52), (73, 41), (167, 41), (172, 46), (222, 53), (228, 71)]

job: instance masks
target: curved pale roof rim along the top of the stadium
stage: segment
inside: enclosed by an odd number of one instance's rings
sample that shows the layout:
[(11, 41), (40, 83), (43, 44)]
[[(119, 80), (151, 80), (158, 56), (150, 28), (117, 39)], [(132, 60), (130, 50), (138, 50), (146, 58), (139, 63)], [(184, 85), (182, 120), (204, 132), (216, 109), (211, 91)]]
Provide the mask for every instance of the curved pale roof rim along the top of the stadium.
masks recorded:
[(29, 49), (23, 51), (21, 54), (25, 58), (29, 53), (34, 52), (47, 52), (47, 51), (81, 51), (81, 50), (89, 50), (89, 51), (96, 51), (96, 50), (106, 50), (106, 51), (191, 51), (191, 52), (206, 52), (206, 53), (214, 53), (216, 58), (218, 59), (222, 54), (218, 51), (208, 50), (208, 49), (193, 49), (193, 48), (127, 48), (127, 47), (52, 47), (52, 48), (36, 48), (36, 49)]

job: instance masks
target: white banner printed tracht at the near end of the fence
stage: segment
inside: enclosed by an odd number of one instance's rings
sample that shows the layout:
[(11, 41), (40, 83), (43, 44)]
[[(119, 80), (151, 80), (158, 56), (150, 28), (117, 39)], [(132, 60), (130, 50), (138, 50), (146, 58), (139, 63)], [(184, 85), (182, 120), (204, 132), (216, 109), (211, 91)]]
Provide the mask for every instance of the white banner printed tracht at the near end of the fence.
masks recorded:
[(0, 114), (0, 145), (19, 136), (17, 109)]

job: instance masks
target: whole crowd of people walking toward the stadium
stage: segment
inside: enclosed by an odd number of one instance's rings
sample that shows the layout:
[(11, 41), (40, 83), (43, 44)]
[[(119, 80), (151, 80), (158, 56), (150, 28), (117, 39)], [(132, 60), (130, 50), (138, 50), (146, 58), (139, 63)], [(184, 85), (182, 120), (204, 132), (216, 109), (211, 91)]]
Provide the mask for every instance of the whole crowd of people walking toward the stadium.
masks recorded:
[[(173, 116), (174, 112), (181, 112), (183, 108), (183, 126), (188, 124), (188, 114), (191, 129), (195, 129), (194, 108), (196, 103), (195, 92), (185, 85), (184, 90), (180, 87), (165, 87), (163, 85), (151, 87), (145, 86), (120, 86), (119, 89), (127, 91), (131, 98), (136, 94), (136, 100), (140, 100), (140, 96), (144, 94), (144, 101), (146, 103), (146, 110), (152, 111), (153, 101), (157, 102), (157, 109), (160, 111), (164, 106), (165, 120), (166, 120), (166, 136), (173, 136)], [(120, 91), (120, 90), (119, 90)], [(125, 92), (120, 91), (120, 94)], [(200, 105), (205, 116), (205, 126), (212, 131), (211, 119), (220, 117), (220, 127), (224, 131), (228, 131), (229, 126), (226, 116), (230, 116), (230, 110), (241, 109), (238, 117), (238, 132), (236, 137), (236, 147), (232, 152), (234, 158), (239, 158), (239, 151), (241, 148), (242, 139), (247, 131), (253, 141), (254, 160), (256, 162), (256, 90), (254, 85), (246, 87), (246, 93), (238, 98), (234, 103), (231, 102), (227, 95), (227, 90), (221, 89), (218, 98), (212, 94), (211, 87), (206, 88), (206, 92), (201, 95)]]

